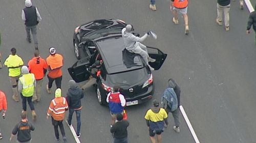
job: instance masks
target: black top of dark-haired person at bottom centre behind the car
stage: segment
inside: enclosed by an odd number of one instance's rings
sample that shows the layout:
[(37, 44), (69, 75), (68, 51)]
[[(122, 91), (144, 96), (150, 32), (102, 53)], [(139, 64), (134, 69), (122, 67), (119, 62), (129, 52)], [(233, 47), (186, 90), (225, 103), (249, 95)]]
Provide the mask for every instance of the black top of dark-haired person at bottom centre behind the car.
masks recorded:
[(127, 127), (129, 126), (128, 121), (116, 122), (110, 129), (111, 133), (114, 133), (114, 138), (127, 137)]

